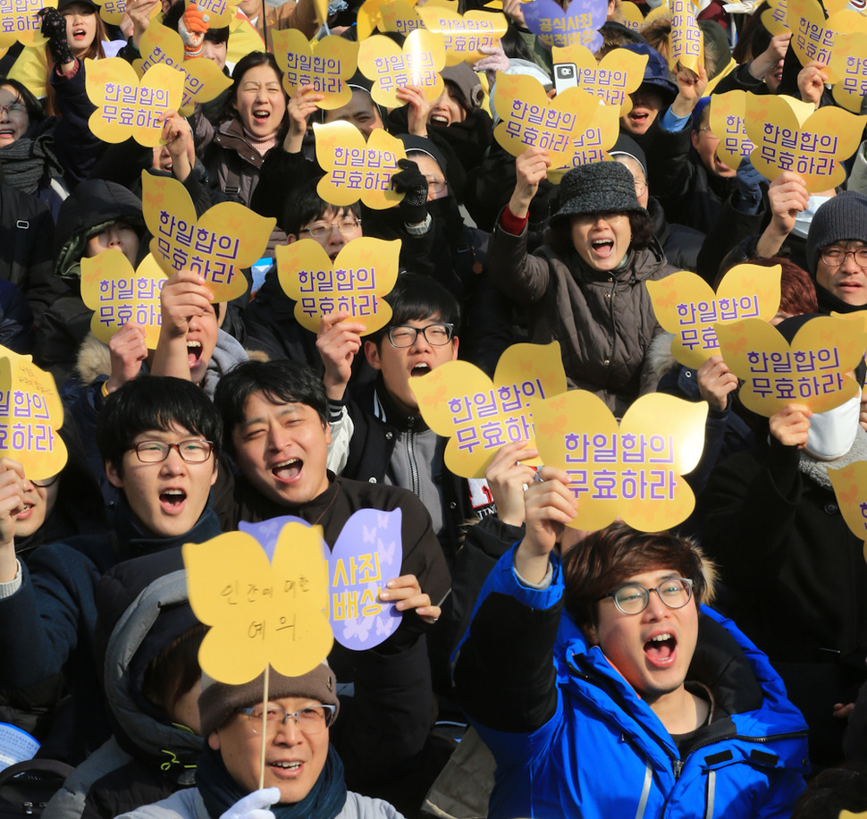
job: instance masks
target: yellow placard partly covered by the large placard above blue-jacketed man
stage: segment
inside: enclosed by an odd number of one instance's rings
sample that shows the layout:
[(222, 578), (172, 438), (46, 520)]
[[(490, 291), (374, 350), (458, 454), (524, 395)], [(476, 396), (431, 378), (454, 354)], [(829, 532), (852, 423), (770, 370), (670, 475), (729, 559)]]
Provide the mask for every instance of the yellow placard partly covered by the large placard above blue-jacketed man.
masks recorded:
[(409, 388), (427, 426), (449, 438), (445, 465), (455, 475), (484, 477), (504, 443), (534, 446), (530, 401), (565, 393), (566, 374), (558, 342), (512, 344), (497, 362), (493, 381), (468, 361), (448, 361), (411, 378)]

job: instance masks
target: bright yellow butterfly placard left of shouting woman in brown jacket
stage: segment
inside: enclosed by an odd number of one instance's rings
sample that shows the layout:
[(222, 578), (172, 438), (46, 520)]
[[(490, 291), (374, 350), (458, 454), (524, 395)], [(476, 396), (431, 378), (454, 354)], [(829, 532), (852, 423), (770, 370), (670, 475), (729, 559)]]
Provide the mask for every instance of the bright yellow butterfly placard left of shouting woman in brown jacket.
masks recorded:
[(139, 77), (121, 57), (84, 61), (88, 98), (97, 110), (88, 125), (103, 142), (132, 137), (145, 148), (156, 148), (163, 135), (163, 117), (177, 111), (183, 98), (184, 75), (169, 65), (155, 65)]

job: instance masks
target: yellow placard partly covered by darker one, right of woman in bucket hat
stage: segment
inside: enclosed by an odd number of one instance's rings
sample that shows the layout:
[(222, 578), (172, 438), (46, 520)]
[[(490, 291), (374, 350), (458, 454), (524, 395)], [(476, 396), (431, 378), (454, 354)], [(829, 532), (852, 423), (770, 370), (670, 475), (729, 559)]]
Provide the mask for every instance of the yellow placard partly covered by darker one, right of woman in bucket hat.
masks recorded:
[(782, 268), (737, 265), (725, 275), (716, 293), (704, 279), (681, 270), (647, 282), (656, 320), (674, 334), (671, 355), (697, 369), (720, 352), (714, 325), (742, 318), (770, 321), (779, 308)]

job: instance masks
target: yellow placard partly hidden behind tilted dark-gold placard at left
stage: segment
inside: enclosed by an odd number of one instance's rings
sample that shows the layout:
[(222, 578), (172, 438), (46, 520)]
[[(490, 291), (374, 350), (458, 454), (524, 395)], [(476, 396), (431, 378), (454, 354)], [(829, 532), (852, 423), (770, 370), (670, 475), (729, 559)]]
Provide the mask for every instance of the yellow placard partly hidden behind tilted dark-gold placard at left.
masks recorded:
[(118, 249), (81, 259), (81, 300), (93, 310), (90, 330), (107, 344), (127, 322), (145, 332), (148, 350), (160, 337), (160, 291), (168, 276), (148, 253), (136, 270)]

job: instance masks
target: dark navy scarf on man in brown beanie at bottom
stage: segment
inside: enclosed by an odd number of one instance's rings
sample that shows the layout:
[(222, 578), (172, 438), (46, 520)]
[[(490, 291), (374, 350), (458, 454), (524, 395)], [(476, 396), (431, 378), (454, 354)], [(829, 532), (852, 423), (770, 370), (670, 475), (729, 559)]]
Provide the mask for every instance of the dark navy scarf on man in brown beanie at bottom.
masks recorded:
[[(205, 747), (198, 760), (196, 784), (207, 812), (222, 816), (239, 799), (247, 796), (247, 789), (231, 778), (219, 751)], [(346, 804), (346, 782), (343, 781), (343, 763), (332, 745), (328, 746), (328, 759), (316, 784), (307, 796), (292, 805), (274, 805), (271, 812), (276, 819), (334, 819)]]

